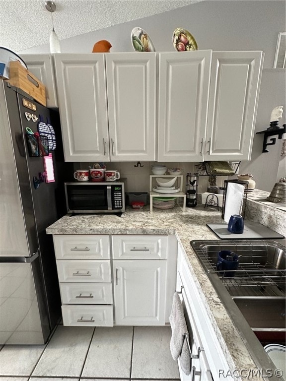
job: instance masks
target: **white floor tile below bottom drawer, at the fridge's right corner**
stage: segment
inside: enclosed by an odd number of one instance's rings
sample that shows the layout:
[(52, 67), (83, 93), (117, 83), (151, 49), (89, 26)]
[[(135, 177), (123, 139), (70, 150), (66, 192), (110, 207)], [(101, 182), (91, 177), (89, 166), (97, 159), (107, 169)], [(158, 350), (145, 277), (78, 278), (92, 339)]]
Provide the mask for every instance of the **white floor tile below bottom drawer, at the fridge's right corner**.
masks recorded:
[(79, 377), (93, 330), (59, 325), (33, 376)]

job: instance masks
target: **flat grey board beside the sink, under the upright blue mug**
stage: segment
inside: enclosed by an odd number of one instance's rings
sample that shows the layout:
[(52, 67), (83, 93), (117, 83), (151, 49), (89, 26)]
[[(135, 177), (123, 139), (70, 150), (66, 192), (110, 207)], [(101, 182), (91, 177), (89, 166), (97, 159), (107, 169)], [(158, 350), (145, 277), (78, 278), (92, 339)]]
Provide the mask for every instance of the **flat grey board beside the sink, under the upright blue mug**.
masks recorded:
[(214, 234), (221, 240), (254, 240), (254, 239), (282, 239), (283, 235), (267, 228), (258, 222), (247, 221), (244, 222), (244, 231), (242, 234), (230, 233), (227, 230), (226, 222), (219, 222), (216, 224), (208, 224), (207, 226), (214, 232)]

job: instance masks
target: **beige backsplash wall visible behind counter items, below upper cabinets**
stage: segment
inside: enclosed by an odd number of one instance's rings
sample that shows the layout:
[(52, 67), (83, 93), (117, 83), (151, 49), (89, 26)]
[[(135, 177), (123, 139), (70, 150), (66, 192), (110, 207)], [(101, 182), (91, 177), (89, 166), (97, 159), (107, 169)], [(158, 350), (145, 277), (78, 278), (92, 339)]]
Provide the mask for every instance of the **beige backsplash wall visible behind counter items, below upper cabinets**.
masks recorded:
[[(88, 169), (88, 166), (93, 165), (94, 163), (73, 163), (74, 170), (77, 169)], [(149, 175), (152, 175), (151, 167), (154, 164), (163, 164), (168, 168), (182, 168), (183, 169), (183, 191), (185, 191), (186, 184), (186, 174), (188, 172), (196, 173), (195, 164), (198, 163), (190, 163), (190, 162), (141, 162), (142, 167), (139, 165), (137, 167), (137, 162), (128, 161), (128, 162), (107, 162), (105, 163), (107, 169), (117, 169), (120, 172), (121, 177), (127, 178), (127, 191), (128, 192), (148, 192), (149, 191)], [(166, 173), (168, 174), (168, 173)], [(160, 177), (158, 175), (158, 177)], [(224, 180), (227, 177), (217, 176), (216, 177), (216, 185), (218, 187), (223, 186)], [(200, 176), (198, 182), (198, 192), (203, 193), (207, 191), (209, 183), (209, 176)], [(175, 184), (177, 186), (177, 184)]]

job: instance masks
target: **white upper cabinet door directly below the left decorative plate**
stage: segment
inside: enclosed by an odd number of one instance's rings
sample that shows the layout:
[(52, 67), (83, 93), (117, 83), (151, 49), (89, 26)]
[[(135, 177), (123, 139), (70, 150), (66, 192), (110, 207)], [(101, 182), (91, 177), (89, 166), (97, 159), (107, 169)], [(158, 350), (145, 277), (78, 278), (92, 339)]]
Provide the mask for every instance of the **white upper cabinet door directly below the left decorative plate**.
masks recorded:
[(155, 160), (155, 53), (106, 55), (111, 161)]

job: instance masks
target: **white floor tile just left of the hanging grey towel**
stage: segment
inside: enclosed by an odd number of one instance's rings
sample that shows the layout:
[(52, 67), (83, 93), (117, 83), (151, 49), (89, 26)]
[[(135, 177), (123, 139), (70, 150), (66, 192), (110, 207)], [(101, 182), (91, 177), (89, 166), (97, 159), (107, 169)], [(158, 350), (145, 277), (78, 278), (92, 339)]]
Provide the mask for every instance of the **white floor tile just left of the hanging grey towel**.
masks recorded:
[(170, 353), (170, 327), (135, 327), (132, 379), (179, 379)]

